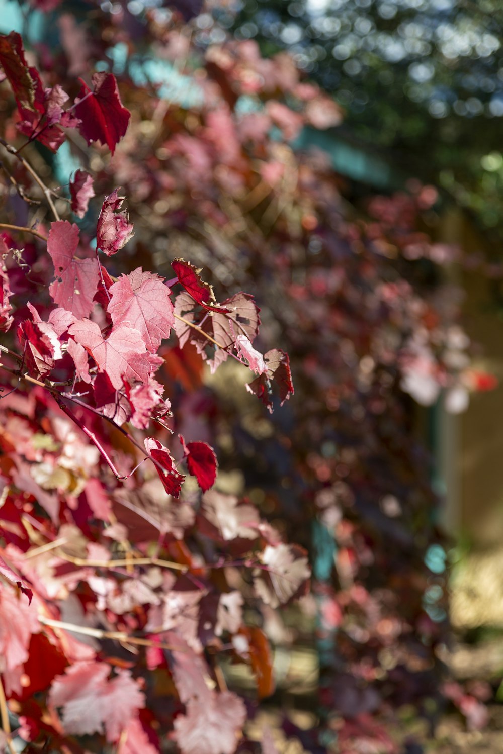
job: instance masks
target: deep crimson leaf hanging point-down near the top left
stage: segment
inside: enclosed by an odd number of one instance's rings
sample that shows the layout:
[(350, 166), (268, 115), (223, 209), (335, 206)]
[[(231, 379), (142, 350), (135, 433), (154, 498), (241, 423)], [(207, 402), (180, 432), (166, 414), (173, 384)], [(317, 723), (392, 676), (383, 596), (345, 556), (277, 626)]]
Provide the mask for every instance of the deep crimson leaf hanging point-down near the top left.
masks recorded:
[(117, 81), (112, 73), (95, 73), (92, 82), (94, 90), (91, 92), (87, 84), (81, 81), (78, 100), (75, 100), (75, 112), (81, 119), (78, 128), (87, 144), (99, 141), (108, 145), (113, 155), (126, 133), (130, 112), (121, 103)]

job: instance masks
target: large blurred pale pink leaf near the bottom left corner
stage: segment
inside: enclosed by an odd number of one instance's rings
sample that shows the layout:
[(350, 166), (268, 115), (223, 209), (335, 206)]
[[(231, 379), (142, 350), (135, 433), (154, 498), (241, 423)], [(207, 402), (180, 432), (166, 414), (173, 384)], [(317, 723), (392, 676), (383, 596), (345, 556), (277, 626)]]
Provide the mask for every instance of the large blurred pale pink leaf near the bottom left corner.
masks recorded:
[(101, 662), (76, 662), (56, 676), (49, 702), (63, 707), (66, 733), (90, 735), (106, 732), (117, 741), (136, 712), (145, 706), (145, 697), (129, 670), (118, 670), (109, 679), (110, 667)]

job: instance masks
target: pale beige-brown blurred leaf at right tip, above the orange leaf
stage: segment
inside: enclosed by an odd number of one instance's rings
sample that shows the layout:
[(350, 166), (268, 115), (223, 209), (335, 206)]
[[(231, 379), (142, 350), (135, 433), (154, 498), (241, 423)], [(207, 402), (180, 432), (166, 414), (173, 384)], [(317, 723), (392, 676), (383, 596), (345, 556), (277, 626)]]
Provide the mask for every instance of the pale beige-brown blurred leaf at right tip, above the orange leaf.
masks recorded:
[(307, 585), (311, 571), (305, 550), (293, 544), (278, 544), (265, 547), (262, 564), (267, 570), (256, 572), (253, 580), (256, 593), (266, 605), (277, 608), (289, 602)]

